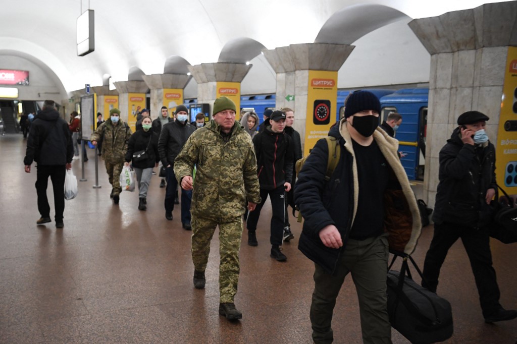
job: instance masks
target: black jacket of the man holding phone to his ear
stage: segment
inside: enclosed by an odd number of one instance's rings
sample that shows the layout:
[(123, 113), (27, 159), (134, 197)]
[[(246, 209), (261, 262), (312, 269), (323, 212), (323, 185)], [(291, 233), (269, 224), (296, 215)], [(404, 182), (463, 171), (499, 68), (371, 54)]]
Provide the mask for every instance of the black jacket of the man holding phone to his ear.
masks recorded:
[(495, 149), (490, 142), (465, 145), (460, 135), (460, 127), (454, 129), (440, 150), (433, 221), (481, 228), (492, 217), (485, 195), (488, 189), (497, 188)]

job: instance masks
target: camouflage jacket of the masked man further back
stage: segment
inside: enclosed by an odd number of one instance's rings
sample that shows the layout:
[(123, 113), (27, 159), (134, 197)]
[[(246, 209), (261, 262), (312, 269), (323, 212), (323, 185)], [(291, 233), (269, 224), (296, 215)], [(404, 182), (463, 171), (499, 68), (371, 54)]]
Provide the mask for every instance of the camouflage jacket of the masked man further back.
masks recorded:
[(131, 135), (131, 129), (126, 122), (119, 120), (114, 126), (111, 119), (108, 119), (92, 134), (90, 141), (102, 142), (101, 154), (105, 161), (124, 163)]

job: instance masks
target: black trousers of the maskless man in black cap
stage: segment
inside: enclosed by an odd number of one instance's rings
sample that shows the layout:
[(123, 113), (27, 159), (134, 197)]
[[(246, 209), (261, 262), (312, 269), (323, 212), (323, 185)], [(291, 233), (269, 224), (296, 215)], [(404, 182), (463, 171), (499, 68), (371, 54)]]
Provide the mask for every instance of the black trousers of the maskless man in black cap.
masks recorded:
[(254, 231), (257, 229), (258, 217), (260, 217), (260, 211), (266, 203), (267, 196), (271, 198), (271, 236), (269, 241), (271, 245), (282, 245), (282, 235), (284, 233), (284, 185), (277, 187), (273, 190), (260, 189), (260, 198), (262, 202), (257, 204), (255, 210), (250, 211), (248, 214), (248, 220), (246, 221), (246, 228)]

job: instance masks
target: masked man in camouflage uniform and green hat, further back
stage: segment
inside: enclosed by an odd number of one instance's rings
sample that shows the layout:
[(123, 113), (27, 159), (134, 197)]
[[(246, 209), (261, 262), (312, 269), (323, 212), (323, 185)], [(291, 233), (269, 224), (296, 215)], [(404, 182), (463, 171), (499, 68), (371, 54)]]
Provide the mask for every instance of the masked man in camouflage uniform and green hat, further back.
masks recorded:
[(126, 122), (120, 120), (120, 110), (112, 108), (110, 119), (102, 123), (90, 138), (94, 146), (97, 146), (97, 142), (102, 142), (101, 155), (112, 185), (110, 197), (113, 198), (115, 204), (118, 204), (119, 195), (122, 191), (119, 176), (124, 166), (128, 140), (131, 134), (131, 129)]

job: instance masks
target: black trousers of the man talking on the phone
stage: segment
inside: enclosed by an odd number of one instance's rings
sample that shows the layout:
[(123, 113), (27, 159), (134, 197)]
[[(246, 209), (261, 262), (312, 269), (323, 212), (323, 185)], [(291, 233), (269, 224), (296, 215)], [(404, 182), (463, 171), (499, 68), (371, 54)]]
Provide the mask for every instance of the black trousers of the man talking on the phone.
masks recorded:
[(431, 291), (436, 291), (440, 268), (442, 268), (449, 248), (459, 238), (463, 242), (470, 260), (470, 267), (474, 272), (483, 316), (489, 316), (492, 312), (498, 310), (501, 305), (499, 304), (500, 293), (495, 270), (492, 267), (489, 232), (486, 229), (475, 229), (448, 223), (435, 224), (433, 240), (423, 264), (425, 282), (422, 282), (422, 286)]

